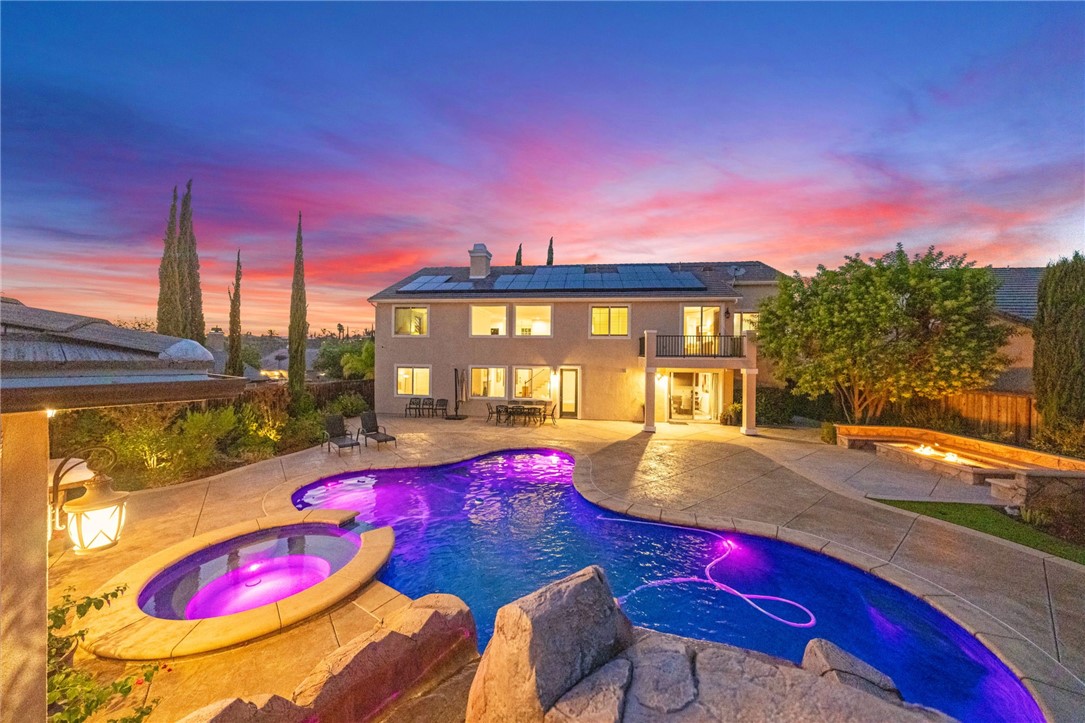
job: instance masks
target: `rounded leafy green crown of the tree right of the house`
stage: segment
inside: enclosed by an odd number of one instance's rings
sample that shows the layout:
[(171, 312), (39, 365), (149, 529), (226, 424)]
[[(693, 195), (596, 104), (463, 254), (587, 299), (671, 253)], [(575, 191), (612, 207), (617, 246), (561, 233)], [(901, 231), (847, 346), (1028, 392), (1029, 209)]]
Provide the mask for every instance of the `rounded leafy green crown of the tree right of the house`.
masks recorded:
[(758, 348), (796, 394), (835, 393), (851, 420), (870, 422), (890, 403), (982, 388), (1005, 367), (1010, 328), (995, 318), (987, 269), (933, 248), (845, 258), (781, 278), (762, 304)]

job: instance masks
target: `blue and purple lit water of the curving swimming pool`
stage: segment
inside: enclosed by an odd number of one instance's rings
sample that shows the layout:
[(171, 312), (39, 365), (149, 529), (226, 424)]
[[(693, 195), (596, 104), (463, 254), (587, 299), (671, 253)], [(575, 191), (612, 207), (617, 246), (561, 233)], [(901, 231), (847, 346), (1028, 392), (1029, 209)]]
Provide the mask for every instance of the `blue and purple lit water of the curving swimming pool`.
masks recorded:
[(795, 662), (824, 637), (886, 673), (909, 702), (963, 721), (1044, 720), (1000, 660), (903, 589), (776, 540), (615, 515), (580, 497), (572, 479), (569, 455), (521, 449), (337, 474), (293, 502), (357, 510), (361, 529), (392, 525), (380, 580), (410, 597), (459, 596), (482, 646), (499, 607), (599, 565), (636, 625)]

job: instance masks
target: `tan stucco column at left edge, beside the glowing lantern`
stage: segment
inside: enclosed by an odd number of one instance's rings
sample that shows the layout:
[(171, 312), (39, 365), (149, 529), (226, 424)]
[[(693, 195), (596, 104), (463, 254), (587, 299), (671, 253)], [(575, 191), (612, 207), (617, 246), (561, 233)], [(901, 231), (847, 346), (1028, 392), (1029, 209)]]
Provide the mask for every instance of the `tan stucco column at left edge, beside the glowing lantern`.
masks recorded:
[(46, 720), (44, 411), (0, 417), (0, 701), (5, 721)]

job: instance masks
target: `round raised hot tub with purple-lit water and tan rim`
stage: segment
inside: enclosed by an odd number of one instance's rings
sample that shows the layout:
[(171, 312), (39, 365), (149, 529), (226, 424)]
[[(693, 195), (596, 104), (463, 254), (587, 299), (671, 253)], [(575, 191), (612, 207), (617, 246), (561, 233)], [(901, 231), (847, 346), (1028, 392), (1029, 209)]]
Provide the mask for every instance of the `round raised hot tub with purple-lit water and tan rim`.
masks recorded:
[(119, 660), (181, 658), (309, 620), (361, 589), (392, 555), (392, 528), (345, 529), (355, 515), (273, 515), (149, 555), (99, 588), (138, 592), (91, 610), (81, 647)]

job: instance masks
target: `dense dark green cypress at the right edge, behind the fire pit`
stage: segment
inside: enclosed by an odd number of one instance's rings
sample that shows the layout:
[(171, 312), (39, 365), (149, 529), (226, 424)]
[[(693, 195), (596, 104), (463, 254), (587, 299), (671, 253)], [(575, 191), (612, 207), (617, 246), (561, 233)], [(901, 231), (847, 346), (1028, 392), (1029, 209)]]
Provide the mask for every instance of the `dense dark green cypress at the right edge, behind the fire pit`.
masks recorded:
[(1048, 424), (1085, 423), (1085, 256), (1044, 271), (1032, 335), (1036, 408)]

